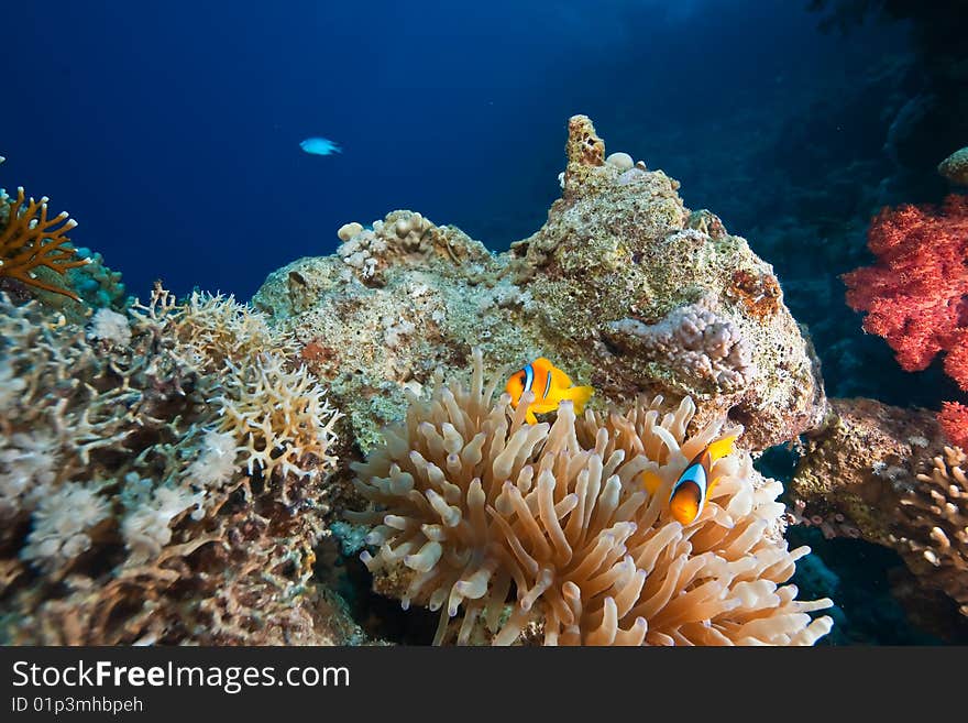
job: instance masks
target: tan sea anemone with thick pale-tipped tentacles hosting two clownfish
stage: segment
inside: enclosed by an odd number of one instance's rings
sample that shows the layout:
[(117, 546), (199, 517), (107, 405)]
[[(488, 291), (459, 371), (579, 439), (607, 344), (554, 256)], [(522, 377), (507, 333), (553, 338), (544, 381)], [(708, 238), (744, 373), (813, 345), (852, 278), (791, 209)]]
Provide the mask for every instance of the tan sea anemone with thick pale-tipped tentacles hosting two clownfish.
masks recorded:
[[(442, 610), (437, 643), (809, 645), (829, 631), (810, 613), (831, 601), (783, 584), (810, 550), (788, 549), (782, 488), (748, 453), (716, 462), (694, 523), (670, 516), (673, 483), (722, 421), (688, 435), (691, 399), (663, 414), (657, 397), (581, 419), (564, 402), (553, 424), (528, 425), (527, 404), (495, 401), (499, 377), (485, 386), (480, 349), (473, 360), (470, 388), (411, 395), (353, 467), (373, 507), (346, 513), (373, 525), (376, 590)], [(662, 481), (652, 496), (647, 471)]]

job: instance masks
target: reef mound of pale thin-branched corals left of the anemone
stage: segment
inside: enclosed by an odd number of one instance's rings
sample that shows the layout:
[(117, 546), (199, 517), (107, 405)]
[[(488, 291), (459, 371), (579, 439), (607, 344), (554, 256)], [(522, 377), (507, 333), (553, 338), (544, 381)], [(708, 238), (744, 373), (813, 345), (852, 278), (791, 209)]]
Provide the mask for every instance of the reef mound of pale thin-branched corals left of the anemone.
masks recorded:
[(314, 580), (339, 413), (231, 298), (0, 295), (0, 640), (362, 642)]

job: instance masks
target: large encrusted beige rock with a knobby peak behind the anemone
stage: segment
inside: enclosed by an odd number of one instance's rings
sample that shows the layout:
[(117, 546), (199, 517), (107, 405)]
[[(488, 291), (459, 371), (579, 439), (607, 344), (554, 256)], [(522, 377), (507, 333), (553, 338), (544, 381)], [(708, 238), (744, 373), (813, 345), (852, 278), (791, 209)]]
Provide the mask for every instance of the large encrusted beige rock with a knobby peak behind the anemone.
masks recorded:
[(710, 211), (690, 212), (661, 171), (606, 161), (586, 117), (569, 121), (566, 153), (562, 198), (507, 252), (394, 211), (343, 226), (334, 255), (276, 271), (254, 296), (327, 381), (356, 445), (377, 445), (406, 390), (465, 369), (474, 346), (509, 370), (566, 360), (598, 408), (689, 396), (696, 427), (728, 415), (751, 449), (818, 424), (818, 362), (770, 265)]

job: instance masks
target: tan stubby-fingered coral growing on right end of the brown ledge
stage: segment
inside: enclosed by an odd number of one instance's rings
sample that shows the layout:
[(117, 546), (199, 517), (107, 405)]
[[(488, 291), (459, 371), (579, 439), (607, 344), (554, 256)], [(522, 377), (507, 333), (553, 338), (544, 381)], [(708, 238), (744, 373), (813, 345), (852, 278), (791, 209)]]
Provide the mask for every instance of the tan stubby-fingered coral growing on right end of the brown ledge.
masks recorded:
[(921, 581), (943, 590), (968, 615), (968, 456), (945, 447), (901, 497), (891, 541)]

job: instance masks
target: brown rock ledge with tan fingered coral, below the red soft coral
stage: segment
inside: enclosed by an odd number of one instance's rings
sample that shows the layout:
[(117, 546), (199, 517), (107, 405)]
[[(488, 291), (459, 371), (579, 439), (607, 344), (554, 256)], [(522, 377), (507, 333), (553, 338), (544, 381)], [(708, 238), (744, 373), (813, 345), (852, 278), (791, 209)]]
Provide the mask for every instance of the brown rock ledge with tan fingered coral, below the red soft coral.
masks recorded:
[(895, 549), (921, 584), (968, 614), (965, 454), (926, 409), (831, 399), (790, 484), (793, 522)]

